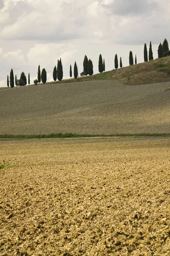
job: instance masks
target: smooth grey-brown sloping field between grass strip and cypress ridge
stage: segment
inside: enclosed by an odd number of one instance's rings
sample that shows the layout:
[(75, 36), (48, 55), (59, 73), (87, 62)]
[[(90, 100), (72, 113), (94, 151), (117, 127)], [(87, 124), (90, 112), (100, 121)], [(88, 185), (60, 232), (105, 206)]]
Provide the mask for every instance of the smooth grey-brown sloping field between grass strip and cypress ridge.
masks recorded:
[(0, 90), (0, 134), (170, 133), (169, 87), (103, 80)]

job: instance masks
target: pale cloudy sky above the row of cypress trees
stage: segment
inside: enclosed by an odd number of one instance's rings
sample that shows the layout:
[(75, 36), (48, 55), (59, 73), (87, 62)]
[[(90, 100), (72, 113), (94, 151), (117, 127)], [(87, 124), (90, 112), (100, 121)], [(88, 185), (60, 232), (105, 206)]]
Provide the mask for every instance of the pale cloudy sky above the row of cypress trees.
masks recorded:
[(53, 81), (57, 59), (63, 78), (77, 62), (79, 74), (87, 55), (98, 71), (99, 54), (105, 70), (113, 70), (114, 57), (129, 64), (129, 52), (143, 62), (144, 44), (153, 58), (164, 38), (170, 42), (169, 0), (0, 0), (0, 87), (6, 86), (11, 68), (23, 71), (33, 83), (38, 65)]

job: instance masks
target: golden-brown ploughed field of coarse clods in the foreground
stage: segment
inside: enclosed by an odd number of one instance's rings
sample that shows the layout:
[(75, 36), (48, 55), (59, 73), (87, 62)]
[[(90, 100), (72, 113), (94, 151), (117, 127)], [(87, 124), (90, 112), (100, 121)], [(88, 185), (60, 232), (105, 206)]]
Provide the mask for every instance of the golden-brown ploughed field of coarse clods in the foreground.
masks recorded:
[(0, 255), (170, 255), (170, 138), (4, 141), (0, 160)]

